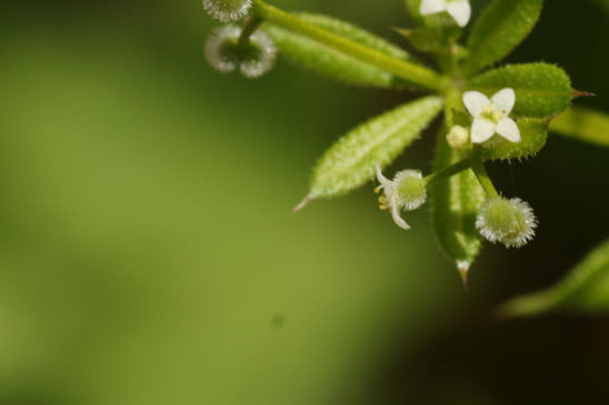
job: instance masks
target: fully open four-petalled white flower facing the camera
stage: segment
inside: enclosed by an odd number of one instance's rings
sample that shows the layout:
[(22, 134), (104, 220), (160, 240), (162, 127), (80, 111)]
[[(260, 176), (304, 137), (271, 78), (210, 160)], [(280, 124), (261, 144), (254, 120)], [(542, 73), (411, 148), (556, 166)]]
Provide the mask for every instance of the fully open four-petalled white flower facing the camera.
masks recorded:
[(482, 143), (498, 133), (510, 142), (520, 142), (520, 130), (508, 115), (516, 103), (513, 89), (503, 89), (490, 100), (479, 91), (463, 94), (463, 104), (473, 117), (471, 142)]

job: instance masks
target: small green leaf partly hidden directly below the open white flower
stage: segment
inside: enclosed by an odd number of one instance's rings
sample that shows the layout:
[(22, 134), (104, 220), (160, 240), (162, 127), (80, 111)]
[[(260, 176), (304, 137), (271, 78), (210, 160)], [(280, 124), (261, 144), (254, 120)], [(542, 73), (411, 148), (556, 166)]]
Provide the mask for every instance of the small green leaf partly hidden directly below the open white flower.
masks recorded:
[(516, 123), (520, 129), (522, 140), (512, 143), (501, 136), (492, 136), (485, 143), (482, 156), (485, 160), (509, 160), (533, 156), (546, 145), (548, 139), (548, 123), (543, 120), (523, 118)]

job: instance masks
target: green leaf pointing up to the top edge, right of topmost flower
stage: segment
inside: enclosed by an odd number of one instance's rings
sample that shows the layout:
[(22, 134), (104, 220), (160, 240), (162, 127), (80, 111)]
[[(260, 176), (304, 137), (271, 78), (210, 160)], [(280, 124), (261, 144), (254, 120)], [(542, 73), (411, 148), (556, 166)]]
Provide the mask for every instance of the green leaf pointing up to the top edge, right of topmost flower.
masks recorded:
[(507, 57), (530, 33), (542, 4), (543, 0), (495, 0), (471, 30), (466, 73), (476, 73)]

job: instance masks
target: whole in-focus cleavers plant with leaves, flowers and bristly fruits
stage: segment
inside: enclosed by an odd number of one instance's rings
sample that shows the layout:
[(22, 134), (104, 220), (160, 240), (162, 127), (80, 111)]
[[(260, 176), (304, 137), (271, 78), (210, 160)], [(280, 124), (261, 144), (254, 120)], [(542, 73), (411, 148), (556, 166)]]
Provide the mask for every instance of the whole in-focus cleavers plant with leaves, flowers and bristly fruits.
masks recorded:
[[(405, 1), (417, 23), (397, 30), (408, 51), (330, 17), (288, 13), (261, 0), (204, 0), (216, 19), (242, 20), (240, 27), (216, 30), (206, 54), (221, 72), (240, 67), (246, 75), (258, 77), (272, 67), (277, 49), (329, 79), (422, 94), (336, 142), (319, 160), (309, 193), (294, 211), (376, 178), (381, 209), (408, 230), (403, 212), (418, 209), (429, 195), (440, 245), (467, 283), (483, 239), (520, 247), (533, 239), (537, 226), (527, 202), (496, 190), (485, 163), (535, 156), (552, 120), (589, 93), (573, 90), (555, 64), (495, 67), (531, 32), (543, 0), (493, 0), (471, 29), (469, 0)], [(443, 122), (433, 171), (423, 175), (407, 169), (386, 178), (382, 171), (439, 114)], [(560, 122), (562, 128), (570, 124)]]

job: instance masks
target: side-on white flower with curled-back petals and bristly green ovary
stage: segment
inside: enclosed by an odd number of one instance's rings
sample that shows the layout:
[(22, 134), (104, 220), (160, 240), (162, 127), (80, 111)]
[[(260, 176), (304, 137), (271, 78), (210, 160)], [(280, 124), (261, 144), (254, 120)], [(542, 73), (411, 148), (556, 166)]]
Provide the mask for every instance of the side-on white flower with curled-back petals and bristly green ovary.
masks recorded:
[(396, 174), (393, 180), (382, 175), (380, 166), (377, 164), (377, 179), (380, 185), (375, 192), (382, 195), (379, 198), (380, 209), (391, 212), (393, 222), (402, 230), (409, 230), (410, 226), (400, 216), (401, 210), (412, 211), (421, 206), (427, 200), (426, 181), (418, 170), (402, 170)]

